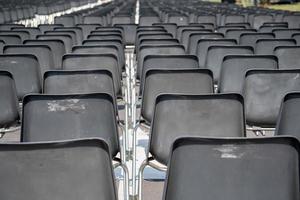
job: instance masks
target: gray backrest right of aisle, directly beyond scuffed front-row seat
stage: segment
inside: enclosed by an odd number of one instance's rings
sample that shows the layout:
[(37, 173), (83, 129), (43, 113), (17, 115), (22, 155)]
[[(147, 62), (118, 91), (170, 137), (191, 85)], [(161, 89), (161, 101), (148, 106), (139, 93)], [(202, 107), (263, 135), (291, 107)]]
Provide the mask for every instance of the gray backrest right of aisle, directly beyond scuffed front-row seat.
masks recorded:
[(243, 97), (238, 94), (158, 96), (149, 148), (153, 157), (166, 165), (174, 141), (192, 136), (245, 136)]

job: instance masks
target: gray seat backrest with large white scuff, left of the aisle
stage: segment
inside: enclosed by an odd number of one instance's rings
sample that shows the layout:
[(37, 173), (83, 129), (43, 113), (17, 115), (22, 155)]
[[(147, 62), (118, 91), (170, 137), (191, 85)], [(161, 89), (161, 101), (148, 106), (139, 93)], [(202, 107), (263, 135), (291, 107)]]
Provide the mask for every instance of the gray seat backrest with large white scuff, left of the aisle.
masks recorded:
[(80, 138), (101, 138), (112, 156), (119, 152), (116, 110), (109, 94), (32, 94), (24, 98), (23, 142)]

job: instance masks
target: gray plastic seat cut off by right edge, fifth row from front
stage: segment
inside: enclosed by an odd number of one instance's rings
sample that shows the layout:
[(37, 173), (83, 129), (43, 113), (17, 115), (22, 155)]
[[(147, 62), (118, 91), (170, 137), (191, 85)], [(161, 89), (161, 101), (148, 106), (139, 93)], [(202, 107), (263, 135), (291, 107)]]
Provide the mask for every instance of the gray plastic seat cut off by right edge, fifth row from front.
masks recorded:
[(300, 46), (277, 46), (274, 55), (278, 57), (279, 69), (300, 68)]

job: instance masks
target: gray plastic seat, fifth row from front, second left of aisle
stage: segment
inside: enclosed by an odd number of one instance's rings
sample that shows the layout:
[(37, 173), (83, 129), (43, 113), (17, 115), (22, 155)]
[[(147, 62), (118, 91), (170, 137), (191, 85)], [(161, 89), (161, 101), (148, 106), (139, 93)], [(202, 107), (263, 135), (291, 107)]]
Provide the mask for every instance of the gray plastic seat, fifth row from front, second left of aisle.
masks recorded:
[(4, 54), (33, 54), (37, 57), (40, 72), (43, 76), (45, 71), (54, 69), (53, 54), (48, 45), (7, 45)]

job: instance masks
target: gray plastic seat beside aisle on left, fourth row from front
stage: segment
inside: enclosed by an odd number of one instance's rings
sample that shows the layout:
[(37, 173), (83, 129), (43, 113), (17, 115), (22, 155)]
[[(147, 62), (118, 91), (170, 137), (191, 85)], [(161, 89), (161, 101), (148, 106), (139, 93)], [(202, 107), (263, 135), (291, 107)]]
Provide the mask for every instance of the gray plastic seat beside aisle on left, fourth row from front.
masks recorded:
[(63, 56), (65, 70), (108, 70), (111, 72), (115, 92), (121, 91), (118, 60), (114, 54), (67, 54)]

